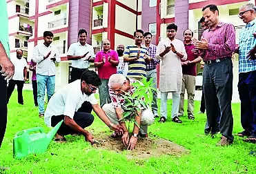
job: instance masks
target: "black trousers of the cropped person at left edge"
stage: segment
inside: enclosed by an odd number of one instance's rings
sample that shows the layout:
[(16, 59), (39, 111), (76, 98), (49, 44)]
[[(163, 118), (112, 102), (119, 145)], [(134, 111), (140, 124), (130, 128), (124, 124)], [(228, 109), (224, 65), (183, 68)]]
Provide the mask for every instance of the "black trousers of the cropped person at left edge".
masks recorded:
[[(1, 69), (1, 67), (0, 67)], [(0, 147), (3, 141), (4, 133), (6, 133), (6, 123), (7, 123), (7, 86), (6, 86), (6, 80), (4, 77), (0, 74), (0, 93), (1, 93), (1, 99), (0, 99)]]

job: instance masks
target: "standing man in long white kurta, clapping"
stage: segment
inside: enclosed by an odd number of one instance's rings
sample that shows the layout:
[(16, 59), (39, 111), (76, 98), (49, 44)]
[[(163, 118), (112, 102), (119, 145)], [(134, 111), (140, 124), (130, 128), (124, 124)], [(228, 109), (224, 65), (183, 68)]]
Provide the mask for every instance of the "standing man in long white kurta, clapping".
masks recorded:
[(159, 42), (156, 56), (161, 59), (159, 90), (161, 92), (161, 117), (159, 122), (167, 119), (167, 95), (173, 94), (172, 120), (181, 123), (178, 117), (179, 99), (182, 84), (181, 59), (186, 60), (187, 54), (183, 41), (176, 39), (177, 26), (171, 23), (166, 28), (168, 38)]

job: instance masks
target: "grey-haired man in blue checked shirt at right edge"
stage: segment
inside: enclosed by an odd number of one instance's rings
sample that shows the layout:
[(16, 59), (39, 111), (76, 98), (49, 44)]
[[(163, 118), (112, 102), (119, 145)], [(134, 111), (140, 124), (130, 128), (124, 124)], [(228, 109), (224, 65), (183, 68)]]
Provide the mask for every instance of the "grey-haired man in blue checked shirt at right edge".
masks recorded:
[[(244, 131), (239, 137), (247, 137), (245, 142), (256, 143), (256, 59), (253, 48), (256, 45), (255, 6), (248, 3), (239, 9), (239, 18), (246, 23), (239, 36), (239, 81), (241, 100), (241, 123)], [(254, 48), (255, 49), (255, 48)]]

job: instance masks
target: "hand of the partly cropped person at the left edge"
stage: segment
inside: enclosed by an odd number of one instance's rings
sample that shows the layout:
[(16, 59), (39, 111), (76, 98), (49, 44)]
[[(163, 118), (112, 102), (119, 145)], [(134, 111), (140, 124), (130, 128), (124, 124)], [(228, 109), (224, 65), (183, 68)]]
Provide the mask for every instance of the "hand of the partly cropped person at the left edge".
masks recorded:
[(0, 59), (0, 68), (1, 68), (1, 73), (2, 76), (6, 77), (4, 78), (5, 80), (7, 79), (12, 79), (12, 76), (14, 74), (14, 66), (12, 64), (12, 62), (10, 61), (10, 59), (8, 59), (8, 57), (6, 57), (6, 59)]

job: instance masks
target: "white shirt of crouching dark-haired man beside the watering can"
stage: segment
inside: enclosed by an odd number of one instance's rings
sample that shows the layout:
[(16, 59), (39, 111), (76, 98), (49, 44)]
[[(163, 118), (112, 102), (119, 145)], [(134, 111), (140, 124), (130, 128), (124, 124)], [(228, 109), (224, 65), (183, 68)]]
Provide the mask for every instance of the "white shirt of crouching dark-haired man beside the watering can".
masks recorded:
[(46, 108), (44, 122), (50, 127), (54, 116), (66, 115), (73, 119), (75, 112), (81, 108), (84, 101), (97, 104), (94, 93), (86, 95), (81, 92), (81, 79), (73, 81), (52, 95)]

